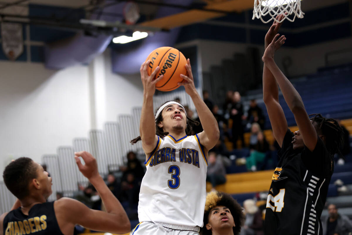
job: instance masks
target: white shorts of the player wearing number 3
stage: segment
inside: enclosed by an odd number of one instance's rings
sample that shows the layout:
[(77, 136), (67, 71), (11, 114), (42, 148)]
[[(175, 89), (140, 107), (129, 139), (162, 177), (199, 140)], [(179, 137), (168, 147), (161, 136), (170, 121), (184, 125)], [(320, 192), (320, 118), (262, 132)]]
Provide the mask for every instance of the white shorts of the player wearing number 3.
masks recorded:
[[(167, 226), (167, 227), (166, 227)], [(172, 228), (169, 228), (172, 227)], [(174, 224), (141, 222), (132, 230), (132, 235), (199, 235), (199, 227)]]

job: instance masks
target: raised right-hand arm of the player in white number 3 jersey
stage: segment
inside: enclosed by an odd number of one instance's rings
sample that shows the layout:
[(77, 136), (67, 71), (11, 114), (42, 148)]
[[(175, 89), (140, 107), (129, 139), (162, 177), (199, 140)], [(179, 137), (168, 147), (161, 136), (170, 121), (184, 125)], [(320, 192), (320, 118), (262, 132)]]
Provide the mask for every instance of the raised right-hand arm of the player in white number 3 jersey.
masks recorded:
[(194, 106), (196, 107), (200, 122), (202, 123), (203, 131), (198, 134), (201, 144), (207, 149), (211, 149), (215, 146), (219, 140), (220, 131), (218, 122), (216, 121), (213, 113), (209, 110), (208, 106), (204, 103), (200, 95), (198, 94), (193, 80), (193, 74), (191, 70), (191, 64), (189, 59), (187, 60), (186, 69), (188, 76), (181, 74), (181, 78), (184, 82), (179, 82), (179, 85), (183, 85), (186, 89), (187, 94), (192, 98)]

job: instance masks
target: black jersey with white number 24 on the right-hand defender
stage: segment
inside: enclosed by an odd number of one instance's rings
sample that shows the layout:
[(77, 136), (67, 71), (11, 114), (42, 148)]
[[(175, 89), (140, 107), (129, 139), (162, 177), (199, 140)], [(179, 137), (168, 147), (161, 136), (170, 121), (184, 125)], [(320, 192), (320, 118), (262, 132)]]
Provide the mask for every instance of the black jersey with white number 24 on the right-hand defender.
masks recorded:
[(322, 235), (321, 212), (333, 172), (333, 161), (318, 136), (315, 149), (294, 150), (288, 129), (280, 161), (272, 175), (264, 231), (266, 235)]

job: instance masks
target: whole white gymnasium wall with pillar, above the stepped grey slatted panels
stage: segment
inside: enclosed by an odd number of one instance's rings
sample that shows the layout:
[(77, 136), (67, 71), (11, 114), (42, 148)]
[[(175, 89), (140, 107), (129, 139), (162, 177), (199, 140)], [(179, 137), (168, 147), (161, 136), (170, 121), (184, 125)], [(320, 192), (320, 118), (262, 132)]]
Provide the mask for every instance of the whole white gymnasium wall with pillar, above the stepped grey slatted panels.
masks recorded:
[(72, 145), (73, 138), (142, 105), (140, 75), (112, 73), (109, 50), (87, 66), (59, 71), (32, 62), (0, 61), (0, 68), (1, 172), (15, 157), (40, 162), (59, 145)]

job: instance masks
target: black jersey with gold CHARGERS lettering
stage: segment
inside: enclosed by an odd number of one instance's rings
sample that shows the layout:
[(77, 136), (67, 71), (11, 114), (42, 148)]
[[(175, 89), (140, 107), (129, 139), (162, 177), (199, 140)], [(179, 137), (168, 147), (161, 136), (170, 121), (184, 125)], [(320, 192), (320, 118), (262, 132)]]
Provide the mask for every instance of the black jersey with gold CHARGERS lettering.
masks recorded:
[(21, 208), (12, 210), (4, 218), (4, 235), (63, 235), (56, 220), (54, 202), (34, 205), (29, 214)]

